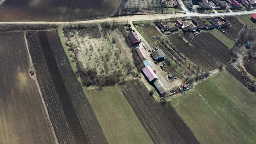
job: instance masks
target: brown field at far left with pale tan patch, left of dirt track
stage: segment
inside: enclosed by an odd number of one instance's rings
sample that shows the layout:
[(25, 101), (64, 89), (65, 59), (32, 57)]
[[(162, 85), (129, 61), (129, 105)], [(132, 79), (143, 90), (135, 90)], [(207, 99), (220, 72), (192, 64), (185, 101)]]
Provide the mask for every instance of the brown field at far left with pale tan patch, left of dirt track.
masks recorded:
[(0, 144), (54, 144), (23, 33), (0, 33)]

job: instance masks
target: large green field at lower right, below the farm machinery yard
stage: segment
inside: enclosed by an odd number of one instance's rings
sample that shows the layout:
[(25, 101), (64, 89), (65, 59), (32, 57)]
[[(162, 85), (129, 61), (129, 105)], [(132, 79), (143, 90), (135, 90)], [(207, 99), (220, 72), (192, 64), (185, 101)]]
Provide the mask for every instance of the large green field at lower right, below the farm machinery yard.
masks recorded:
[(203, 144), (256, 143), (256, 96), (226, 70), (172, 104)]

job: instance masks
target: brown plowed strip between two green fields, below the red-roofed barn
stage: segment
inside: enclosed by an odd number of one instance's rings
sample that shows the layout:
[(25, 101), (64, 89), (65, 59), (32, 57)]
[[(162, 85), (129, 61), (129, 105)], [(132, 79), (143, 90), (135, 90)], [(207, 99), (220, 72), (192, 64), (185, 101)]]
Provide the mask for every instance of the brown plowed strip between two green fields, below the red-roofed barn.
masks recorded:
[(199, 143), (171, 104), (157, 103), (140, 80), (122, 85), (121, 90), (155, 144)]

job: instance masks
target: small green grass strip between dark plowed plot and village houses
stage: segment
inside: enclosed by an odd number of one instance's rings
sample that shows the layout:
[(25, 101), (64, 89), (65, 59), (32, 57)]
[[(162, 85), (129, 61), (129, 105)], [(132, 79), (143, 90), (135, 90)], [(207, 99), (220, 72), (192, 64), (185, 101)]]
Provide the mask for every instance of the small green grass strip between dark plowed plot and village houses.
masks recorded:
[(230, 39), (228, 36), (225, 34), (221, 33), (220, 30), (218, 29), (212, 29), (210, 30), (210, 33), (215, 36), (217, 39), (220, 40), (221, 43), (226, 45), (229, 49), (232, 49), (235, 41), (233, 39)]

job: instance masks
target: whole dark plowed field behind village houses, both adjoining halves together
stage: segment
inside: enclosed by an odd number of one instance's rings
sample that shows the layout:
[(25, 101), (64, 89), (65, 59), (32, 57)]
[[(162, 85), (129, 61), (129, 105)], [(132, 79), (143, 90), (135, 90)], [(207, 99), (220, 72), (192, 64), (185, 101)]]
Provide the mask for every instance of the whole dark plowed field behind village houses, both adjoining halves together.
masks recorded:
[(217, 69), (220, 63), (226, 64), (231, 59), (229, 49), (210, 33), (200, 33), (194, 38), (181, 34), (169, 37), (177, 53), (183, 53), (201, 69), (210, 71)]

